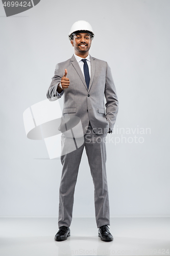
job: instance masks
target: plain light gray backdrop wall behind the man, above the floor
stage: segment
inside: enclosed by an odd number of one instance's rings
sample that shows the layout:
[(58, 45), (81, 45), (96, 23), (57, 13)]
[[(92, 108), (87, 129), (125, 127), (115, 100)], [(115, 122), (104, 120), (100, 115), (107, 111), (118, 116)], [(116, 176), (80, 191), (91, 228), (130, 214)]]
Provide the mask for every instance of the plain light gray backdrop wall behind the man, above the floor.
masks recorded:
[[(108, 135), (110, 215), (169, 216), (169, 9), (168, 0), (41, 0), (7, 18), (0, 3), (1, 216), (58, 216), (61, 162), (45, 160), (44, 142), (26, 137), (22, 114), (46, 98), (56, 63), (74, 53), (67, 34), (81, 19), (95, 33), (90, 54), (112, 70), (115, 126), (151, 129)], [(122, 135), (144, 141), (115, 145)], [(94, 217), (93, 193), (84, 152), (74, 217)]]

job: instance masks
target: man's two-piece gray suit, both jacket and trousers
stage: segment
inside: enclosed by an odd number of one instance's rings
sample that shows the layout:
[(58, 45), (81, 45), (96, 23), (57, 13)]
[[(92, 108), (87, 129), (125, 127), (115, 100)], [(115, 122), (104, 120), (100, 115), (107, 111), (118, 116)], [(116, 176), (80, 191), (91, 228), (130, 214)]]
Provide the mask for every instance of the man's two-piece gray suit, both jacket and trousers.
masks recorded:
[[(89, 89), (87, 89), (79, 63), (72, 55), (70, 59), (56, 65), (55, 75), (46, 94), (51, 101), (64, 95), (62, 121), (70, 116), (79, 117), (84, 135), (84, 143), (81, 147), (61, 157), (63, 170), (60, 184), (59, 227), (62, 225), (69, 227), (71, 223), (75, 185), (84, 147), (94, 183), (96, 223), (98, 227), (110, 225), (105, 138), (109, 128), (113, 130), (118, 112), (118, 100), (107, 62), (90, 56), (90, 64)], [(57, 86), (65, 69), (67, 69), (70, 84), (58, 96)], [(106, 98), (105, 105), (104, 97)], [(71, 140), (69, 136), (62, 135), (63, 150), (69, 144), (69, 140)]]

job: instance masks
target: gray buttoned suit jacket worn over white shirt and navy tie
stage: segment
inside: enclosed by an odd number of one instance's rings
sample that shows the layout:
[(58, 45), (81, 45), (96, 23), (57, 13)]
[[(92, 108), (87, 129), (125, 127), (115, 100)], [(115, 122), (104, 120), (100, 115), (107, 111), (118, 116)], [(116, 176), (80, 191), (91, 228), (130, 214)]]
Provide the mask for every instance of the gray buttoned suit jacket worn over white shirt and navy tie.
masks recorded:
[[(62, 123), (64, 126), (66, 119), (78, 117), (82, 123), (83, 135), (87, 131), (89, 121), (96, 134), (104, 134), (109, 131), (109, 128), (111, 131), (113, 130), (116, 121), (118, 112), (116, 89), (106, 61), (90, 56), (90, 64), (89, 89), (87, 89), (79, 63), (72, 55), (70, 59), (56, 65), (55, 75), (46, 96), (51, 101), (64, 96), (61, 127)], [(58, 96), (57, 87), (65, 69), (67, 69), (67, 77), (70, 82), (69, 87)], [(104, 104), (104, 97), (106, 104)]]

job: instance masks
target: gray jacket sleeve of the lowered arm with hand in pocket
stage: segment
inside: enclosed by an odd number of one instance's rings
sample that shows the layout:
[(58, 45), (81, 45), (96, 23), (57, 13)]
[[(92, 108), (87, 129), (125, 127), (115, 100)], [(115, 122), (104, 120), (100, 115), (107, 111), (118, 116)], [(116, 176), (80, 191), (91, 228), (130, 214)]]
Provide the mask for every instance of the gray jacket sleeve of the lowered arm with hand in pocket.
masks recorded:
[(107, 63), (106, 84), (105, 84), (105, 98), (106, 98), (106, 119), (109, 122), (111, 132), (116, 121), (118, 113), (118, 99), (116, 95), (116, 88), (111, 74), (111, 69)]

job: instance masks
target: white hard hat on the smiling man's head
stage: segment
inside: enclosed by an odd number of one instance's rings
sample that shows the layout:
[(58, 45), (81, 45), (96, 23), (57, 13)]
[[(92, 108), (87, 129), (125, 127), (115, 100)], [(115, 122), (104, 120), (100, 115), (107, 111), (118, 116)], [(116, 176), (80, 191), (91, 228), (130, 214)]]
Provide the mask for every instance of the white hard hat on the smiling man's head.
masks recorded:
[(68, 37), (69, 37), (70, 40), (72, 39), (72, 33), (77, 32), (77, 31), (88, 31), (88, 32), (90, 32), (89, 34), (91, 35), (91, 39), (94, 36), (93, 29), (92, 29), (91, 25), (88, 22), (86, 22), (85, 20), (78, 20), (78, 22), (75, 22), (72, 25), (72, 27), (70, 29), (70, 32), (68, 34)]

